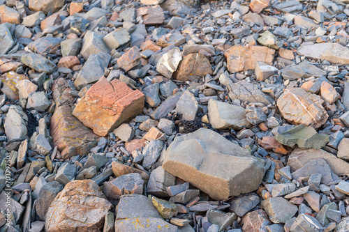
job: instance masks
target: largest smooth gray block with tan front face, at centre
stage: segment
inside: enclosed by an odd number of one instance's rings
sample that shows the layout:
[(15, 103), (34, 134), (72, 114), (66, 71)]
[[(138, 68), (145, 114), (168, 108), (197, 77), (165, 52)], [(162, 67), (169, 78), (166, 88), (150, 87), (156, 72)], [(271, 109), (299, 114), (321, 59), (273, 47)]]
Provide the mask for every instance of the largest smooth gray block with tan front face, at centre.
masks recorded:
[(264, 171), (247, 150), (204, 128), (174, 139), (163, 169), (216, 200), (256, 190)]

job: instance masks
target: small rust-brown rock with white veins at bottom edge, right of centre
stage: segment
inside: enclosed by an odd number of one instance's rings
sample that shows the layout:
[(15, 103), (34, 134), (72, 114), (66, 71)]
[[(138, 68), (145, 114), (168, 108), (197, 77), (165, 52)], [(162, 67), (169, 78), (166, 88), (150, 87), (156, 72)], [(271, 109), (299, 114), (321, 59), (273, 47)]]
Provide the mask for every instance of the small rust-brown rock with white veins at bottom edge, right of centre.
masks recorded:
[(242, 217), (242, 231), (259, 232), (265, 226), (272, 224), (265, 210), (248, 212)]

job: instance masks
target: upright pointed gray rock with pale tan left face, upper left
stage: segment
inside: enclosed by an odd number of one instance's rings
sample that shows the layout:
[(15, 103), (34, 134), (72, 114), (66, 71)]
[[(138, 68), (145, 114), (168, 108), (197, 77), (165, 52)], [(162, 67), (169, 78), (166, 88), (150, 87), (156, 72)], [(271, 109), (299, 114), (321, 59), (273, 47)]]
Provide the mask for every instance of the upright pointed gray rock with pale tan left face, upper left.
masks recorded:
[(87, 60), (89, 59), (89, 56), (101, 52), (110, 54), (109, 47), (107, 47), (107, 45), (105, 45), (103, 42), (103, 36), (94, 31), (87, 31), (87, 33), (84, 35), (84, 39), (82, 40), (80, 54), (85, 60)]

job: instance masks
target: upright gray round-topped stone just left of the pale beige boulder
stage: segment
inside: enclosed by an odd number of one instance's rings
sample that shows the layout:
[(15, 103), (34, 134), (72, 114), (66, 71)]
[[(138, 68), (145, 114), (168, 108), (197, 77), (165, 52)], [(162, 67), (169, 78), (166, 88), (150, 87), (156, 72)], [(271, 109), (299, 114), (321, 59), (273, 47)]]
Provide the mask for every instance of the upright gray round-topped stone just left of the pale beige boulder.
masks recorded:
[(193, 93), (186, 91), (181, 95), (176, 103), (176, 112), (181, 114), (181, 120), (193, 121), (195, 120), (196, 112), (198, 111), (198, 102)]

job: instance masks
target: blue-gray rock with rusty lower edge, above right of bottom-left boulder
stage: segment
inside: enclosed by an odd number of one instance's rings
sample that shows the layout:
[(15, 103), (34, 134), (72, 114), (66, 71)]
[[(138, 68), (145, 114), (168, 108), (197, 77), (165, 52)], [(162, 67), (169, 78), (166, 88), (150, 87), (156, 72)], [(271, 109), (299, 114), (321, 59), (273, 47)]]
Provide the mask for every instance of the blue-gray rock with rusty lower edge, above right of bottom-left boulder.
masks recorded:
[(103, 192), (111, 199), (117, 199), (126, 194), (142, 194), (143, 183), (139, 173), (129, 173), (105, 182)]

